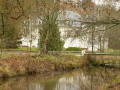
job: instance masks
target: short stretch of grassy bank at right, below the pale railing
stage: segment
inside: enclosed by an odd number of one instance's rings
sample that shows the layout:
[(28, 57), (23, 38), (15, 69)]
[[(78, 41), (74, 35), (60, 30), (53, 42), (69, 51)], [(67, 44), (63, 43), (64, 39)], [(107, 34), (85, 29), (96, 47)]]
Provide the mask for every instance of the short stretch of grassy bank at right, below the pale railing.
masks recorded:
[(107, 66), (120, 68), (120, 56), (112, 55), (88, 55), (87, 63), (93, 66)]

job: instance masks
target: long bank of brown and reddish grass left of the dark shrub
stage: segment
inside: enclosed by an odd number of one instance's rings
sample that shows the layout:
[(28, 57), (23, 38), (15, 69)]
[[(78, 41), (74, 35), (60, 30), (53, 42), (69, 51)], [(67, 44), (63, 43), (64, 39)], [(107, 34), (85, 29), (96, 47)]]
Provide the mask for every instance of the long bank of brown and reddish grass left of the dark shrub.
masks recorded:
[(12, 55), (0, 60), (0, 77), (72, 70), (84, 65), (83, 58), (74, 55), (60, 54), (46, 55), (44, 57), (38, 55)]

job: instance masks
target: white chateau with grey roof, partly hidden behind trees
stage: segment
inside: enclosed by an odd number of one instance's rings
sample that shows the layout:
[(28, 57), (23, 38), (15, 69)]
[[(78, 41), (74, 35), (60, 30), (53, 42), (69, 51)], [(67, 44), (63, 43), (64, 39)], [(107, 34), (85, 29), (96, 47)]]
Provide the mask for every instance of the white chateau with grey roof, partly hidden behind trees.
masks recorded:
[[(87, 16), (86, 16), (87, 17)], [(59, 15), (58, 19), (65, 19), (65, 20), (71, 20), (71, 21), (79, 21), (82, 20), (82, 17), (80, 14), (74, 11), (67, 10), (65, 11), (65, 15), (62, 16)], [(91, 17), (87, 17), (87, 19), (91, 19)], [(39, 26), (41, 24), (41, 20), (37, 19), (30, 19), (28, 24), (28, 30), (29, 33), (26, 36), (23, 36), (21, 39), (22, 44), (21, 46), (28, 46), (28, 47), (38, 47), (38, 42), (39, 42), (39, 30), (37, 27), (34, 27), (35, 25)], [(66, 23), (66, 25), (65, 25)], [(80, 33), (80, 22), (64, 22), (60, 23), (59, 25), (59, 30), (61, 32), (61, 39), (64, 40), (64, 48), (68, 47), (80, 47), (84, 48), (87, 50), (92, 50), (92, 44), (91, 44), (91, 33), (79, 36), (79, 37), (69, 37), (69, 36), (74, 36), (75, 32), (74, 30), (78, 30)], [(68, 38), (66, 38), (68, 37)], [(104, 49), (108, 48), (108, 40), (104, 40), (103, 42), (99, 43), (98, 36), (95, 35), (94, 37), (94, 51), (97, 51), (100, 49), (101, 46), (104, 47)]]

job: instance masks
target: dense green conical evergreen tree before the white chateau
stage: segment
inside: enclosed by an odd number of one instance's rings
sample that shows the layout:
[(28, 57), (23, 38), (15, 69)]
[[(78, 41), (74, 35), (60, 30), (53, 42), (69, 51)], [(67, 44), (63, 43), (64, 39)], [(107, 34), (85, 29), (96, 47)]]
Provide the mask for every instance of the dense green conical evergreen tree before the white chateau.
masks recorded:
[(43, 20), (42, 28), (40, 29), (40, 48), (44, 48), (46, 52), (60, 51), (63, 48), (63, 44), (64, 42), (60, 39), (60, 31), (56, 21)]

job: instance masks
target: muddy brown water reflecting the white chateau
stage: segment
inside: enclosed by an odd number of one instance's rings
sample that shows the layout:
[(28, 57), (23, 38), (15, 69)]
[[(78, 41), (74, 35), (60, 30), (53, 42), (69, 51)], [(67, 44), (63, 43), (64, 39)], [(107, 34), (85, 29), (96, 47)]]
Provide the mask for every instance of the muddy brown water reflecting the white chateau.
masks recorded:
[(0, 90), (120, 90), (120, 70), (83, 68), (0, 80)]

